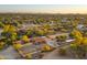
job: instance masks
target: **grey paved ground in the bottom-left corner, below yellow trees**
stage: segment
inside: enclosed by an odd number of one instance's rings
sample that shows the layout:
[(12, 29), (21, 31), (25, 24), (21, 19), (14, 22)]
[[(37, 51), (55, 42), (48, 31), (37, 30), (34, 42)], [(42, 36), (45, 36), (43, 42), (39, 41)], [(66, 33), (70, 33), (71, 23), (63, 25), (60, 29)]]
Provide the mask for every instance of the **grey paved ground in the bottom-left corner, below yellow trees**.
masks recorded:
[(0, 56), (2, 56), (6, 59), (18, 59), (21, 58), (19, 53), (13, 48), (13, 46), (9, 46), (8, 48), (0, 52)]

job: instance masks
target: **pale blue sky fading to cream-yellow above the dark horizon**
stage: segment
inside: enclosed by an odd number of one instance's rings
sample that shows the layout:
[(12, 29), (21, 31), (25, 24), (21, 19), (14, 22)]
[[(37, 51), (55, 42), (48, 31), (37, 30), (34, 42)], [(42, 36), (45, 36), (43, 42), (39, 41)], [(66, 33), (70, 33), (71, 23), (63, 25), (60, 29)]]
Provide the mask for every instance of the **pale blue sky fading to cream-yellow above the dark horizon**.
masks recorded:
[(23, 13), (87, 13), (81, 4), (0, 4), (0, 12)]

